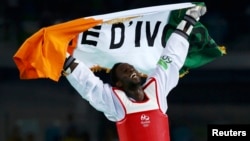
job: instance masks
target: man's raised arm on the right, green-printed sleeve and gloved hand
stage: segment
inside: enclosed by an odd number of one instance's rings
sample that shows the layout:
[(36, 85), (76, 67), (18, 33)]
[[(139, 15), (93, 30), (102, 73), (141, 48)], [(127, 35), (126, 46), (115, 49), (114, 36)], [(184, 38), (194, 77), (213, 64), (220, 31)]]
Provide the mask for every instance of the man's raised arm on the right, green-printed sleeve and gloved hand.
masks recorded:
[(166, 96), (179, 81), (179, 71), (184, 65), (189, 49), (187, 39), (193, 26), (205, 12), (206, 7), (203, 6), (196, 6), (186, 11), (184, 19), (169, 37), (158, 61), (158, 67), (152, 74), (159, 84), (159, 99), (160, 104), (163, 105), (163, 110), (167, 109)]

